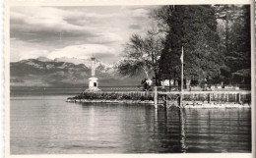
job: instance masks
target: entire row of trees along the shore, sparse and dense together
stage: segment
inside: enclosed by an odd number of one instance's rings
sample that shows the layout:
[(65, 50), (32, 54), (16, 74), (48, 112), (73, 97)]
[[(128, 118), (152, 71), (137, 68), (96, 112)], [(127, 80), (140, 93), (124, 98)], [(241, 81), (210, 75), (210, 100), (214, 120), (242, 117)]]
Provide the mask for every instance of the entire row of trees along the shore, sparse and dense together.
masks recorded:
[(131, 36), (120, 74), (180, 82), (183, 47), (185, 82), (250, 84), (249, 5), (162, 6), (150, 17), (157, 25)]

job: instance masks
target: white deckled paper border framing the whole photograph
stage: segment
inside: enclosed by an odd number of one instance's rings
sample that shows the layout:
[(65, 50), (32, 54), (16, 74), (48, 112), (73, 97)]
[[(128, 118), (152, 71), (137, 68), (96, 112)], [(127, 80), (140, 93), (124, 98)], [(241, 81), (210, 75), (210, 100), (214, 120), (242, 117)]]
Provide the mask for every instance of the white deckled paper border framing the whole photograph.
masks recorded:
[[(197, 154), (38, 154), (10, 155), (10, 7), (12, 6), (110, 6), (110, 5), (166, 5), (166, 4), (250, 4), (251, 5), (251, 77), (252, 77), (252, 153), (197, 153)], [(252, 0), (9, 0), (4, 5), (4, 155), (6, 158), (253, 158), (255, 157), (255, 22)], [(254, 154), (253, 154), (254, 153)]]

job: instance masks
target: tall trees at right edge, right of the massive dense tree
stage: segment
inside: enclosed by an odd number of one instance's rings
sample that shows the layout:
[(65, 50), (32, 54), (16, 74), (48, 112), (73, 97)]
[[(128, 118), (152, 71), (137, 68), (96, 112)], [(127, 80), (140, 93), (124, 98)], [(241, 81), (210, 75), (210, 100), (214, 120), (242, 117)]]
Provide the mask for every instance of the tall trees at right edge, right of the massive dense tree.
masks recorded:
[(250, 82), (250, 7), (216, 5), (218, 31), (224, 45), (224, 83)]

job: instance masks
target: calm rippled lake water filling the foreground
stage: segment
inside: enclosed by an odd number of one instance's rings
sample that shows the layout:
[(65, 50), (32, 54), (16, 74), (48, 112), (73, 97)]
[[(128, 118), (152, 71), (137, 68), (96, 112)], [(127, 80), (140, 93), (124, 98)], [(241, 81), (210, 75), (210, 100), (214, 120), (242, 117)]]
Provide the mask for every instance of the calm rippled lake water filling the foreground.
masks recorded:
[(250, 109), (163, 109), (11, 97), (11, 154), (251, 152)]

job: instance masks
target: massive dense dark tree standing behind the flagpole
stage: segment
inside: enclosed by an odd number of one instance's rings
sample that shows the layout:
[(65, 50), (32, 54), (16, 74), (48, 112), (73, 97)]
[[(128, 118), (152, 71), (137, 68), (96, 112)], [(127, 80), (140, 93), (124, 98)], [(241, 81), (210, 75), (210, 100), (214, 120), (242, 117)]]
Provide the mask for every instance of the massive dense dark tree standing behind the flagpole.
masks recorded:
[[(160, 63), (170, 62), (171, 68), (166, 72), (166, 68), (160, 67), (160, 72), (173, 76), (172, 79), (180, 79), (179, 58), (181, 47), (184, 47), (185, 79), (203, 81), (220, 75), (223, 58), (218, 51), (220, 38), (214, 8), (205, 5), (167, 7), (170, 9), (165, 11), (171, 13), (155, 12), (158, 13), (155, 19), (168, 26)], [(169, 16), (163, 19), (160, 14)]]

